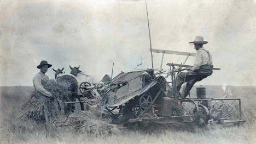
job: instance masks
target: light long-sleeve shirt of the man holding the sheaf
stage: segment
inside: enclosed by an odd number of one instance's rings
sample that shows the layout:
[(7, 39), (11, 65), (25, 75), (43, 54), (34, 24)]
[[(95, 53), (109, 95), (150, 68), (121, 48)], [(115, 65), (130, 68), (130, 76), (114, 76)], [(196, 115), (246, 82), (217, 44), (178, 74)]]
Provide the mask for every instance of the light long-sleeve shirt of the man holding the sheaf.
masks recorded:
[(34, 89), (36, 89), (36, 91), (39, 91), (40, 93), (42, 93), (42, 95), (44, 95), (46, 97), (50, 97), (51, 93), (44, 89), (44, 87), (42, 85), (42, 80), (49, 80), (49, 77), (46, 76), (45, 74), (43, 74), (42, 72), (39, 72), (36, 74), (36, 76), (34, 76), (34, 78), (33, 78)]

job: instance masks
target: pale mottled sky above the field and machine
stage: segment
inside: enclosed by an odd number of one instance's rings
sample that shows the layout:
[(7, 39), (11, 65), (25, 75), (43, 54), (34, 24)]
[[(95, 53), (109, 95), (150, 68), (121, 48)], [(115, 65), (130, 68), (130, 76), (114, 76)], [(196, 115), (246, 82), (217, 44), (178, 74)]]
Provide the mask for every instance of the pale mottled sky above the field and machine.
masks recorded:
[[(256, 1), (147, 1), (152, 48), (193, 52), (196, 35), (213, 55), (212, 76), (196, 85), (256, 86)], [(41, 60), (101, 80), (151, 68), (144, 1), (0, 1), (0, 86), (32, 86)], [(180, 64), (184, 55), (164, 56)], [(194, 57), (187, 64), (194, 64)], [(154, 68), (161, 54), (153, 53)], [(46, 73), (54, 78), (54, 71)]]

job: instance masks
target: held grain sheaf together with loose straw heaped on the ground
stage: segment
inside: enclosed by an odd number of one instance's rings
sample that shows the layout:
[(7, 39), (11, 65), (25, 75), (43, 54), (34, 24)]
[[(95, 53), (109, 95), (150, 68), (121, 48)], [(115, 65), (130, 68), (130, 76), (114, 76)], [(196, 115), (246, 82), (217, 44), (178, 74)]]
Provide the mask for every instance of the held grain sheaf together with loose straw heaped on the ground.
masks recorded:
[[(42, 83), (54, 98), (49, 99), (37, 91), (31, 93), (30, 99), (21, 105), (16, 120), (22, 127), (31, 127), (28, 123), (42, 124), (48, 127), (57, 127), (61, 132), (75, 132), (86, 134), (110, 134), (113, 125), (108, 121), (100, 120), (95, 116), (95, 109), (91, 111), (75, 111), (68, 116), (63, 111), (67, 107), (63, 102), (69, 101), (71, 95), (69, 84), (56, 83), (49, 80)], [(26, 126), (25, 126), (26, 125)], [(21, 127), (21, 126), (19, 126)], [(31, 129), (31, 128), (30, 128)], [(59, 132), (58, 132), (59, 133)]]

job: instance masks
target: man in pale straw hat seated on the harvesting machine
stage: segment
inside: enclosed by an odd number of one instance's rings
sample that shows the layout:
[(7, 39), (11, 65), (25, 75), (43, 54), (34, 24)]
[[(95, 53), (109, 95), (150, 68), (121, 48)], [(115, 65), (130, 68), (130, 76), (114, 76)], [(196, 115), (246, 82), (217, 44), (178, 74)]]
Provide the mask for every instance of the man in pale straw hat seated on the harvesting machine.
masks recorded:
[[(176, 96), (179, 95), (181, 98), (185, 98), (189, 95), (189, 91), (192, 89), (196, 82), (210, 76), (212, 74), (212, 54), (203, 47), (207, 41), (203, 41), (202, 36), (196, 36), (195, 40), (189, 43), (194, 43), (194, 48), (196, 49), (196, 57), (194, 66), (187, 68), (188, 72), (181, 72), (177, 75), (176, 82)], [(183, 83), (187, 84), (184, 86), (183, 92), (180, 93), (179, 90)]]

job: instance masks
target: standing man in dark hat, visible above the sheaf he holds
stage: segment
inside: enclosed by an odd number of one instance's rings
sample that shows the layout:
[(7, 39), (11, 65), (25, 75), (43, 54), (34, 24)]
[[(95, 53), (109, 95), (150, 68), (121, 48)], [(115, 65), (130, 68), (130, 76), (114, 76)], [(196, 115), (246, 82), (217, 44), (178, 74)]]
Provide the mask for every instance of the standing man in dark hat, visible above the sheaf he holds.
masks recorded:
[(51, 67), (51, 64), (48, 64), (46, 60), (42, 60), (40, 64), (37, 66), (40, 69), (40, 72), (36, 74), (33, 78), (33, 86), (36, 91), (42, 93), (45, 97), (53, 98), (50, 92), (46, 91), (42, 85), (43, 80), (49, 80), (49, 77), (45, 75), (48, 68)]

